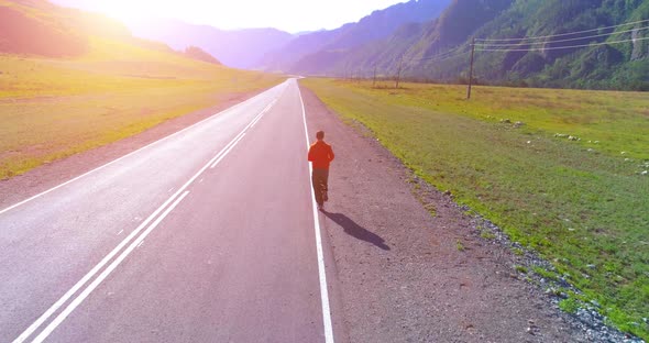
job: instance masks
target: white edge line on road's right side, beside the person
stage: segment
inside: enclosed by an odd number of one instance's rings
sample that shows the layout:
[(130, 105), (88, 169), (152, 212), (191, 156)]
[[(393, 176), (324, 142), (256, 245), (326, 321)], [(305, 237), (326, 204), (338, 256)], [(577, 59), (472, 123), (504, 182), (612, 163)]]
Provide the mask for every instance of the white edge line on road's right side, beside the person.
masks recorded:
[[(305, 102), (302, 100), (301, 91), (297, 80), (295, 81), (297, 92), (299, 95), (299, 102), (302, 107), (302, 121), (305, 123), (305, 136), (307, 139), (307, 148), (309, 146), (309, 131), (307, 129), (307, 112), (305, 110)], [(309, 163), (309, 180), (314, 173), (314, 167)], [(314, 187), (309, 182), (309, 189), (311, 190), (311, 208), (314, 209), (314, 228), (316, 230), (316, 250), (318, 253), (318, 274), (320, 275), (320, 298), (322, 301), (322, 321), (324, 325), (324, 342), (333, 343), (333, 328), (331, 325), (331, 309), (329, 308), (329, 290), (327, 289), (327, 272), (324, 269), (324, 253), (322, 252), (322, 239), (320, 232), (320, 220), (318, 215), (318, 207), (314, 195)]]

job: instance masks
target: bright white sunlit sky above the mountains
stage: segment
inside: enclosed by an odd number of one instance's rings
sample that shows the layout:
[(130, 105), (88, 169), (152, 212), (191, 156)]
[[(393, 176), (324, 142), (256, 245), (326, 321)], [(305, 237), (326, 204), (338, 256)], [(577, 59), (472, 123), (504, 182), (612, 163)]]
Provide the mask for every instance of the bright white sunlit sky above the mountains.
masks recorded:
[(275, 27), (290, 33), (337, 29), (407, 0), (51, 0), (66, 7), (139, 19), (177, 19), (222, 30)]

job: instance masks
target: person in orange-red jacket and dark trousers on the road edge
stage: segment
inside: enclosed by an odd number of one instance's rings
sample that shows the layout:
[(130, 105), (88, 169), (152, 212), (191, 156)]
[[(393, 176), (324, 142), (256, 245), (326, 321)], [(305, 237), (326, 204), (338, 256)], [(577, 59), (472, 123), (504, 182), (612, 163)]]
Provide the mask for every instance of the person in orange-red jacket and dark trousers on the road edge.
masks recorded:
[(333, 150), (331, 145), (324, 143), (324, 131), (318, 131), (316, 139), (318, 141), (309, 147), (309, 161), (314, 164), (311, 182), (316, 193), (316, 202), (318, 202), (318, 209), (322, 210), (324, 201), (329, 200), (327, 181), (329, 179), (329, 164), (333, 161)]

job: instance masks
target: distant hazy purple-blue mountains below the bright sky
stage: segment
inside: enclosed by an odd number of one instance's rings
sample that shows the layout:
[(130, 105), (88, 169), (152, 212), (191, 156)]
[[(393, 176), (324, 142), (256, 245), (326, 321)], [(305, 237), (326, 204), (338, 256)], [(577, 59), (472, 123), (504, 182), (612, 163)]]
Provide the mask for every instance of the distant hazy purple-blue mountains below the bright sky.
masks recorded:
[(223, 64), (235, 68), (289, 71), (302, 58), (345, 51), (385, 38), (410, 22), (436, 18), (450, 0), (411, 0), (377, 10), (356, 23), (336, 30), (290, 34), (275, 29), (219, 30), (177, 20), (127, 22), (134, 35), (161, 41), (175, 49), (199, 46)]

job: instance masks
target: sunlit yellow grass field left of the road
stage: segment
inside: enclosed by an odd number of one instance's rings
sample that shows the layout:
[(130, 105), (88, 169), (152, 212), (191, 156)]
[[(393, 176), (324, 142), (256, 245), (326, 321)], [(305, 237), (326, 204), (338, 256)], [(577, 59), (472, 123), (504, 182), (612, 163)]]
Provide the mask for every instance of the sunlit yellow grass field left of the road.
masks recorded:
[(0, 179), (283, 80), (99, 37), (79, 58), (0, 55)]

